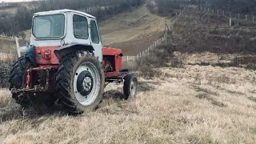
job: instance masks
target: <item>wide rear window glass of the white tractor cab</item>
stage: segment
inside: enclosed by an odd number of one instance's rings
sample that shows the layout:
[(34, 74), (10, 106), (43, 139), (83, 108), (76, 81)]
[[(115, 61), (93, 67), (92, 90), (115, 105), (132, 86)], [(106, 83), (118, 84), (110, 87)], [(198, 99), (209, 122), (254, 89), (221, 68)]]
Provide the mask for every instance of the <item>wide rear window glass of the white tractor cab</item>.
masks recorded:
[(35, 38), (60, 38), (64, 35), (64, 14), (34, 17), (33, 34)]

